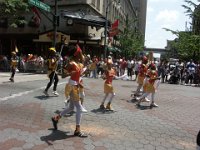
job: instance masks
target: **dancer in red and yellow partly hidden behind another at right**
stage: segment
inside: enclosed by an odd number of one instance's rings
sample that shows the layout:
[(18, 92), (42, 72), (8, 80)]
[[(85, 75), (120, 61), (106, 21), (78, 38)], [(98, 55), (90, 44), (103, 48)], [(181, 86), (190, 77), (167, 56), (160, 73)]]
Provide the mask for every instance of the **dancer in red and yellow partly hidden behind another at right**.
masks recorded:
[(140, 90), (143, 86), (144, 79), (145, 79), (145, 76), (146, 76), (146, 73), (147, 73), (147, 68), (148, 68), (147, 63), (148, 63), (147, 57), (143, 56), (142, 63), (139, 66), (139, 73), (138, 73), (138, 77), (137, 77), (138, 86), (137, 86), (136, 92), (134, 93), (134, 98), (139, 96)]

